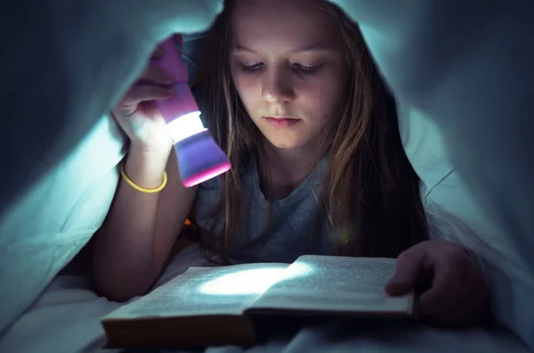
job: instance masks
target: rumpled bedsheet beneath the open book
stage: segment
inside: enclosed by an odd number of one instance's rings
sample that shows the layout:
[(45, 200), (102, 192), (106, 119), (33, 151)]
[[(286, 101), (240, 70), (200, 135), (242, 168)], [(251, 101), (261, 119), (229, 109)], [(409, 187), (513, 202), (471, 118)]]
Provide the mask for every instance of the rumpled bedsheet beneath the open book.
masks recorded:
[[(198, 247), (179, 253), (158, 280), (161, 285), (190, 266), (210, 266)], [(134, 299), (135, 300), (135, 299)], [(2, 352), (148, 353), (189, 352), (182, 349), (105, 349), (100, 319), (120, 303), (109, 302), (94, 292), (89, 277), (76, 271), (55, 277), (34, 306), (12, 325), (0, 341)], [(453, 331), (424, 325), (365, 325), (332, 320), (304, 326), (297, 333), (279, 333), (252, 348), (210, 347), (206, 353), (241, 352), (529, 352), (505, 329), (481, 328)]]

